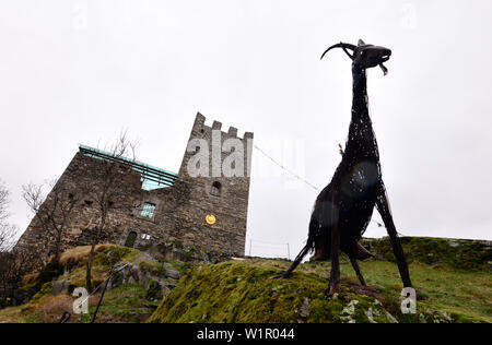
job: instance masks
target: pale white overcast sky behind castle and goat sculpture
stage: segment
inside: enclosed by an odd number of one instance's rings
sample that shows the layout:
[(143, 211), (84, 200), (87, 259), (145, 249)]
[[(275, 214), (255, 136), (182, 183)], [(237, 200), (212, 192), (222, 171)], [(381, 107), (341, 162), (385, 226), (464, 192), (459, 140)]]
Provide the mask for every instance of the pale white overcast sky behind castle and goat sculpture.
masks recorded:
[[(359, 38), (393, 50), (368, 72), (371, 116), (397, 228), (492, 239), (490, 1), (2, 1), (0, 179), (60, 176), (78, 143), (121, 129), (138, 157), (177, 171), (197, 111), (244, 131), (318, 188), (350, 122)], [(291, 257), (317, 195), (254, 152), (247, 251)], [(373, 219), (379, 221), (375, 214)], [(385, 235), (371, 224), (366, 236)]]

